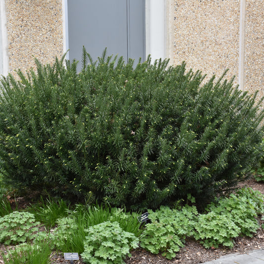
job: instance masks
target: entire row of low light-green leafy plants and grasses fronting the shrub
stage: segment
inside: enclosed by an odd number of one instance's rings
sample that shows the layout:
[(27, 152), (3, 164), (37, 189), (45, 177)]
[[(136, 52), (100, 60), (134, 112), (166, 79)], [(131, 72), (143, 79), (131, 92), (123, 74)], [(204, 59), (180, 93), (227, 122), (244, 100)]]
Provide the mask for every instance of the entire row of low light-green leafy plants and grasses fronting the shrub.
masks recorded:
[[(46, 263), (54, 250), (78, 252), (84, 263), (122, 263), (138, 244), (154, 254), (162, 253), (165, 258), (172, 259), (189, 237), (194, 237), (206, 248), (232, 247), (235, 237), (252, 236), (260, 228), (257, 216), (263, 214), (264, 196), (251, 188), (240, 189), (227, 198), (215, 198), (204, 212), (197, 211), (193, 197), (189, 195), (188, 198), (191, 205), (181, 206), (179, 201), (174, 207), (149, 210), (151, 222), (142, 228), (139, 228), (138, 214), (78, 204), (68, 210), (67, 217), (57, 219), (56, 228), (50, 229), (47, 225), (47, 231), (33, 232), (31, 226), (37, 224), (33, 214), (14, 211), (0, 218), (0, 226), (5, 226), (0, 229), (1, 243), (18, 244), (3, 256), (4, 263), (25, 263), (23, 260), (29, 255), (30, 263), (34, 263), (33, 259), (43, 259)], [(18, 213), (19, 216), (14, 216)], [(25, 221), (31, 222), (30, 227)], [(7, 230), (12, 222), (14, 226)], [(16, 231), (20, 222), (27, 227), (23, 231), (26, 239), (23, 237), (22, 240)], [(24, 241), (27, 243), (21, 244)], [(39, 247), (45, 249), (43, 255)]]

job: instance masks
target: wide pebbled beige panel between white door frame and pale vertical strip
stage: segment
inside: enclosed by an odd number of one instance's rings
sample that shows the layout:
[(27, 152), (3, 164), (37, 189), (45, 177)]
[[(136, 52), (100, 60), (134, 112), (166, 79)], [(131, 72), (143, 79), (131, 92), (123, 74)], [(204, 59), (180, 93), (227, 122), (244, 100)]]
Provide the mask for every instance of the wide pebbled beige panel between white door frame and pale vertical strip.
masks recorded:
[(209, 77), (229, 69), (238, 83), (239, 7), (239, 0), (175, 0), (174, 64), (184, 60)]

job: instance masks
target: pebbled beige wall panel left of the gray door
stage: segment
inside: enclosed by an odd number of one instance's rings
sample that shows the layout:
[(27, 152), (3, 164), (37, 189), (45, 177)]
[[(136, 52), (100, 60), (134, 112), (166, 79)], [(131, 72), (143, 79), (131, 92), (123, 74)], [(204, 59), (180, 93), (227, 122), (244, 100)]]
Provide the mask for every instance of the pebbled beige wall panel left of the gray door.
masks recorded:
[(6, 0), (9, 72), (52, 63), (63, 53), (61, 0)]

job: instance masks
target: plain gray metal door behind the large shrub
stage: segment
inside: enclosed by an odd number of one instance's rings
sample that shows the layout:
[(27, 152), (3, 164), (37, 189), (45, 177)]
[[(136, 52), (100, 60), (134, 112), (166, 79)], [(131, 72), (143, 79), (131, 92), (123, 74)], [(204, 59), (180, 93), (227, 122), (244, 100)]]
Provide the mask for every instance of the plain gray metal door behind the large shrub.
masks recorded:
[(105, 48), (145, 59), (145, 0), (67, 0), (67, 10), (70, 60), (81, 61), (83, 46), (94, 59)]

